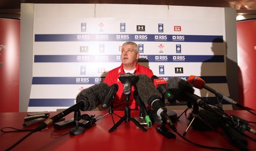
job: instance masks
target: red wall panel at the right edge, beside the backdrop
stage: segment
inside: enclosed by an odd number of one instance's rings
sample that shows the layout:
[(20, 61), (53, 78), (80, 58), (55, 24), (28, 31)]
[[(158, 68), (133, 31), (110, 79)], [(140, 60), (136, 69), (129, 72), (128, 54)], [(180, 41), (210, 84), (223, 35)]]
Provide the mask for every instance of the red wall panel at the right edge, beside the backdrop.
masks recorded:
[(239, 103), (256, 110), (256, 20), (237, 22)]

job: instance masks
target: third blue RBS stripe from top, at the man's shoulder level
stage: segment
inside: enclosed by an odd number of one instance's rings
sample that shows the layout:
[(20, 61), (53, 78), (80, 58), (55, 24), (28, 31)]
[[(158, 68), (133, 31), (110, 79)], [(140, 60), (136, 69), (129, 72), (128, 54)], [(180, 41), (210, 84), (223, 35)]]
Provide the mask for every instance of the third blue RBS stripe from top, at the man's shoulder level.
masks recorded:
[[(200, 76), (205, 83), (227, 83), (226, 76)], [(159, 76), (159, 78), (172, 78), (172, 76)], [(188, 79), (188, 76), (180, 78)], [(104, 77), (86, 76), (86, 77), (33, 77), (32, 84), (58, 85), (58, 84), (95, 84), (103, 82)]]

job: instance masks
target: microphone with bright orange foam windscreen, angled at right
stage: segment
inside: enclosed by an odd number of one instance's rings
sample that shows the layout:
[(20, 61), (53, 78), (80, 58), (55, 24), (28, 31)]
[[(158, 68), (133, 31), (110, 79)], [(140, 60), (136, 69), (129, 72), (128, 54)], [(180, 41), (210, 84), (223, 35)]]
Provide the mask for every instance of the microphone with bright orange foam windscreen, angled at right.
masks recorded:
[(221, 92), (218, 92), (217, 90), (212, 89), (211, 87), (208, 87), (207, 85), (205, 85), (205, 81), (195, 75), (191, 75), (188, 78), (188, 82), (191, 83), (191, 85), (193, 85), (193, 87), (197, 88), (197, 89), (206, 89), (209, 90), (210, 92), (212, 92), (213, 94), (215, 94), (216, 96), (220, 97), (221, 99), (224, 99), (225, 101), (227, 101), (230, 104), (234, 104), (239, 108), (244, 108), (244, 106), (242, 106), (241, 104), (237, 103), (236, 101), (234, 101), (233, 99), (231, 99), (230, 97), (224, 96), (224, 94), (221, 94)]

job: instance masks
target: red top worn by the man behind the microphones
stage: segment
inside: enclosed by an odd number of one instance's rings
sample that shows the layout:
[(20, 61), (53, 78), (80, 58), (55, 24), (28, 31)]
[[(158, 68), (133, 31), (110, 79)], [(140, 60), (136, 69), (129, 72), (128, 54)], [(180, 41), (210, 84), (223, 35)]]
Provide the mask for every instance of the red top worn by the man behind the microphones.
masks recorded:
[[(126, 101), (125, 101), (125, 94), (123, 93), (123, 83), (120, 82), (118, 79), (119, 75), (125, 74), (124, 72), (124, 66), (121, 64), (120, 67), (112, 69), (111, 71), (108, 72), (108, 75), (106, 75), (106, 78), (104, 80), (104, 83), (107, 83), (109, 86), (113, 85), (113, 83), (116, 83), (118, 85), (118, 91), (116, 92), (115, 99), (113, 100), (113, 109), (114, 110), (124, 110), (126, 106)], [(149, 78), (151, 78), (154, 74), (151, 69), (148, 69), (145, 66), (141, 66), (140, 64), (136, 64), (136, 69), (134, 71), (134, 74), (139, 75), (139, 74), (144, 74), (147, 75)], [(131, 89), (131, 95), (130, 95), (130, 101), (129, 101), (129, 106), (131, 110), (138, 110), (138, 103), (133, 98), (133, 91), (134, 91), (134, 86), (132, 86)]]

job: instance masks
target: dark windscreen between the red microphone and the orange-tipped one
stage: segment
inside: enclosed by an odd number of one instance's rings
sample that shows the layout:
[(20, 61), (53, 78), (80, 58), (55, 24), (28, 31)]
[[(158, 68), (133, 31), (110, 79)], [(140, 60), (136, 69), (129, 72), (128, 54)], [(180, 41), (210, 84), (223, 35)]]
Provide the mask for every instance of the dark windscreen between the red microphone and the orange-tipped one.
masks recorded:
[(186, 95), (186, 92), (194, 94), (194, 89), (192, 85), (183, 80), (182, 78), (172, 77), (167, 80), (168, 83), (168, 90), (173, 94), (175, 99), (179, 101), (188, 101), (189, 96)]

